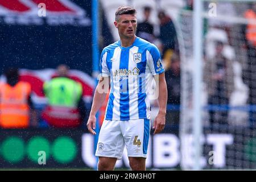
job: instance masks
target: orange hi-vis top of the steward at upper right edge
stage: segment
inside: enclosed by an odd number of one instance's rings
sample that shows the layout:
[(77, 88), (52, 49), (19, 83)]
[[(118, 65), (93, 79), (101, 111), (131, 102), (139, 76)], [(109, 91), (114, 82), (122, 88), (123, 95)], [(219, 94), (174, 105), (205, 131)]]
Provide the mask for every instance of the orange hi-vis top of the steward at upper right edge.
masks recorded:
[(249, 21), (246, 27), (246, 39), (256, 47), (256, 13), (253, 10), (247, 10), (245, 18)]

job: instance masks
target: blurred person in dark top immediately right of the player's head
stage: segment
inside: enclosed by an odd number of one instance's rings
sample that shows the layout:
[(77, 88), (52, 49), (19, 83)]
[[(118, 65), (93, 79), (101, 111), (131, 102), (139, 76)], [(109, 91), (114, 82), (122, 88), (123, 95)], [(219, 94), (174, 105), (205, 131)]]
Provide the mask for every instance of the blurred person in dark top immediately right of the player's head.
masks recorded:
[(144, 7), (144, 20), (143, 22), (138, 23), (137, 26), (137, 35), (147, 40), (148, 42), (154, 42), (154, 26), (149, 22), (149, 18), (151, 15), (151, 7)]

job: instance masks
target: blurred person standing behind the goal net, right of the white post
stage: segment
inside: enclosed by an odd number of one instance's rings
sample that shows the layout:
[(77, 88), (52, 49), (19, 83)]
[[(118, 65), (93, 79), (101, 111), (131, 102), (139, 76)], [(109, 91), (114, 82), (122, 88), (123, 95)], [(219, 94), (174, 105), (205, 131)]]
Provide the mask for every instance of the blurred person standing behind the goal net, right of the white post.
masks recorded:
[[(228, 105), (234, 90), (233, 63), (224, 55), (224, 43), (216, 41), (216, 53), (205, 61), (204, 82), (207, 85), (209, 105)], [(209, 110), (210, 124), (227, 124), (228, 110)]]

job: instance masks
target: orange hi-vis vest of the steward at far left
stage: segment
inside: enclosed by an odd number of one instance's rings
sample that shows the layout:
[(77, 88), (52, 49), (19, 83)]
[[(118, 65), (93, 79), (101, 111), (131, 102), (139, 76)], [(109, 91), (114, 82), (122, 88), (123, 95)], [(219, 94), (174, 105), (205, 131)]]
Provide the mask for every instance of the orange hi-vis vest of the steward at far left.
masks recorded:
[(10, 86), (0, 83), (0, 126), (4, 129), (27, 128), (29, 126), (30, 107), (28, 97), (31, 86), (19, 81)]

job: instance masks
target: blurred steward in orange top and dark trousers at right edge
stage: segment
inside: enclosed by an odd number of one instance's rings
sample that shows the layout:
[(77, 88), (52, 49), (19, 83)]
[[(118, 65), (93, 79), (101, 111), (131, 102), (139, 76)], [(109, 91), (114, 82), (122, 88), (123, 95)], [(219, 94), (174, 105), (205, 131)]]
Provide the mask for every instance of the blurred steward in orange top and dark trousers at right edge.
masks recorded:
[[(248, 24), (243, 27), (245, 48), (247, 49), (247, 67), (243, 70), (243, 82), (249, 87), (247, 103), (256, 105), (256, 3), (245, 12)], [(256, 126), (256, 110), (249, 111), (249, 123), (251, 127)]]

